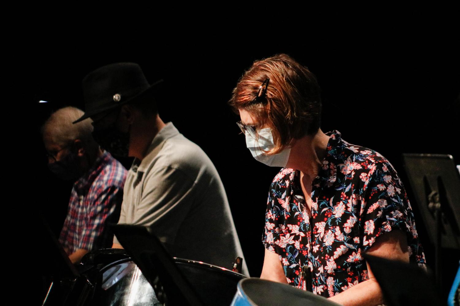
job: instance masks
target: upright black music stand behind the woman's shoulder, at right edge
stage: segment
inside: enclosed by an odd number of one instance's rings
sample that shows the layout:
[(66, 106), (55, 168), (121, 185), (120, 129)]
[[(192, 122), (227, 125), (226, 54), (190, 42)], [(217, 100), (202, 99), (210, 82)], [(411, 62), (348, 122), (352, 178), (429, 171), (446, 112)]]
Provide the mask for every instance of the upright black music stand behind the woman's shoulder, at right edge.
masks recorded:
[(441, 249), (460, 250), (460, 174), (451, 155), (403, 154), (418, 209), (435, 246), (435, 275), (441, 284)]

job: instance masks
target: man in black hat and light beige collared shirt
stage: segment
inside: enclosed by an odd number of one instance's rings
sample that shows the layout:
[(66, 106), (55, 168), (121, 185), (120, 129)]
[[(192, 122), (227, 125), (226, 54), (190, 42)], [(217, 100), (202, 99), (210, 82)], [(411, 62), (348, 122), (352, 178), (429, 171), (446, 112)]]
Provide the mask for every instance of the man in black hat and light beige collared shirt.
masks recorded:
[(75, 122), (91, 117), (101, 147), (135, 157), (119, 223), (149, 226), (173, 256), (230, 268), (242, 250), (224, 186), (206, 153), (161, 120), (160, 83), (135, 63), (98, 68), (83, 79), (86, 112)]

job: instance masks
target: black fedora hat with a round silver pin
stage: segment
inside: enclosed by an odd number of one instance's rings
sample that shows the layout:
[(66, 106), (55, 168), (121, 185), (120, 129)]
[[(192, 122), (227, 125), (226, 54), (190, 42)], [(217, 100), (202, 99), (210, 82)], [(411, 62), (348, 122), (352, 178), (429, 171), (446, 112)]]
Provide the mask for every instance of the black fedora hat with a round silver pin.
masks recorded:
[(149, 84), (136, 63), (115, 63), (100, 67), (82, 81), (85, 114), (76, 122), (127, 102), (142, 99), (163, 80)]

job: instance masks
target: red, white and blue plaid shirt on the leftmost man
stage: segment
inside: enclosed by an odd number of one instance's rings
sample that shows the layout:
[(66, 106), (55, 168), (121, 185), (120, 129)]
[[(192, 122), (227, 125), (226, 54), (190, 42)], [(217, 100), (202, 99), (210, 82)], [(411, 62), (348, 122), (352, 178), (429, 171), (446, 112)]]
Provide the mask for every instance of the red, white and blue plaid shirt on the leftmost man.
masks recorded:
[(127, 171), (105, 151), (93, 167), (74, 183), (59, 243), (68, 255), (78, 249), (98, 250), (112, 246), (107, 223), (120, 217)]

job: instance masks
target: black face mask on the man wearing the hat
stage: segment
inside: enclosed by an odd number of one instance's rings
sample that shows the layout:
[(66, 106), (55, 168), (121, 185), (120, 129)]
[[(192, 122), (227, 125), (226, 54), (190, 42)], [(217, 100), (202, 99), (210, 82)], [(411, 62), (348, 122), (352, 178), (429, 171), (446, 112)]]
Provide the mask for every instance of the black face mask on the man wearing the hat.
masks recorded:
[(126, 157), (129, 151), (129, 131), (120, 132), (115, 123), (107, 128), (94, 128), (92, 138), (114, 156)]

